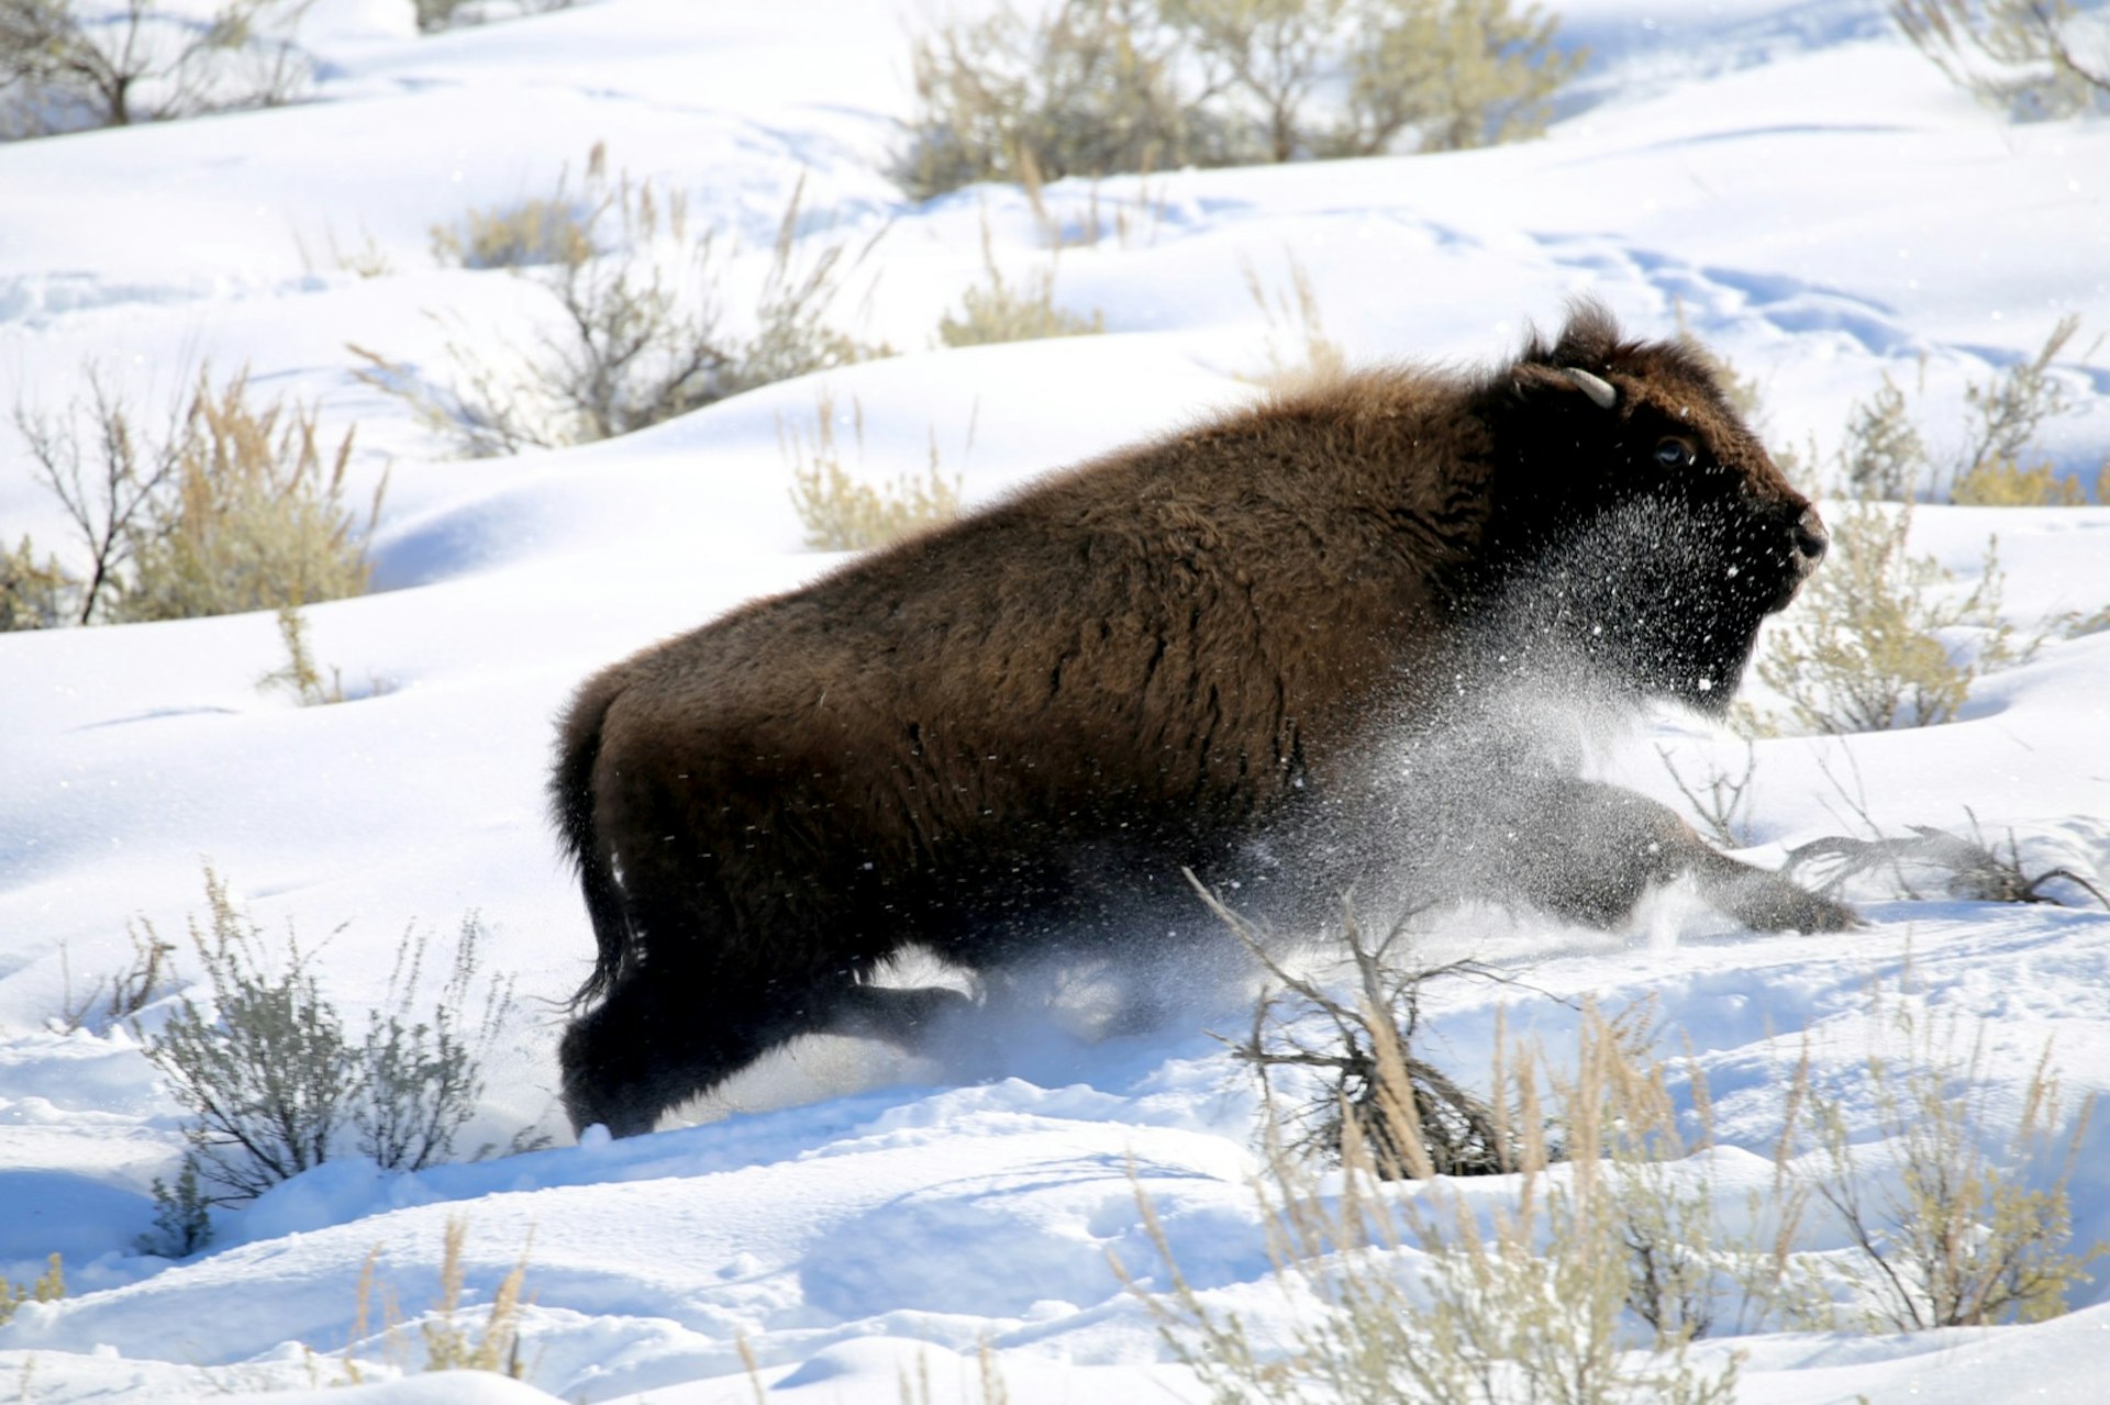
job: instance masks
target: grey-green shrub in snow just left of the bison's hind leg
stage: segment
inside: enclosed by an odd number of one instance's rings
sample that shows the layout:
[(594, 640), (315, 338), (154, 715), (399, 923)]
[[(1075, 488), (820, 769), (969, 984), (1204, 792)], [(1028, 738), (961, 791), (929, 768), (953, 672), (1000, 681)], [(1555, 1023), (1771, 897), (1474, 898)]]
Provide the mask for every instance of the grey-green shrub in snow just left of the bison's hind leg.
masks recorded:
[[(354, 1148), (384, 1169), (443, 1160), (483, 1093), (479, 1061), (513, 1002), (490, 983), (471, 1015), (481, 928), (464, 920), (439, 1004), (414, 1013), (426, 937), (405, 935), (388, 996), (352, 1036), (323, 994), (312, 954), (287, 930), (272, 958), (264, 932), (205, 871), (207, 920), (190, 924), (209, 998), (148, 1036), (146, 1055), (190, 1112), (184, 1141), (207, 1188), (200, 1205), (234, 1205)], [(146, 928), (152, 935), (152, 928)]]

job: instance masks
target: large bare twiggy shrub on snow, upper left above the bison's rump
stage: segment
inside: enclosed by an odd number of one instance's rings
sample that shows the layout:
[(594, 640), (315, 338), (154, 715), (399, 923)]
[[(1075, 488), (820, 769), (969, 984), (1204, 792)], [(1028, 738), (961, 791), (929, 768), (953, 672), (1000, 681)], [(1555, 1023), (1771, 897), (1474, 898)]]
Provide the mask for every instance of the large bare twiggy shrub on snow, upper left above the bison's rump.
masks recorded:
[[(401, 401), (471, 458), (591, 443), (701, 409), (728, 394), (888, 354), (831, 323), (844, 276), (869, 253), (836, 243), (798, 249), (804, 184), (779, 222), (770, 268), (747, 335), (722, 329), (717, 240), (690, 236), (688, 200), (629, 175), (610, 175), (595, 143), (574, 196), (570, 177), (544, 200), (471, 211), (435, 230), (435, 253), (473, 268), (506, 268), (557, 304), (532, 352), (492, 361), (456, 319), (445, 344), (454, 376), (352, 346), (359, 378)], [(447, 319), (437, 319), (447, 323)]]

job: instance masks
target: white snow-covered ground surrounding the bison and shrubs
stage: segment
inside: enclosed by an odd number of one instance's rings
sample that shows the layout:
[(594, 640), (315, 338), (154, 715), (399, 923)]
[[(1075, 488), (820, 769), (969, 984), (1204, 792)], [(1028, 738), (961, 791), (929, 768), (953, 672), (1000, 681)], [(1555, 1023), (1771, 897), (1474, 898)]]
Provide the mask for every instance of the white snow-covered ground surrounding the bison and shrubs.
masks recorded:
[[(1253, 1095), (1205, 1034), (1245, 1013), (1097, 1044), (1051, 1019), (956, 1061), (808, 1040), (694, 1127), (572, 1146), (553, 1002), (591, 937), (542, 810), (551, 719), (595, 667), (833, 565), (800, 546), (779, 449), (817, 382), (861, 409), (869, 477), (920, 468), (935, 439), (966, 498), (987, 500), (1249, 397), (1268, 325), (1241, 270), (1287, 287), (1291, 257), (1359, 359), (1494, 359), (1576, 293), (1646, 333), (1682, 314), (1760, 384), (1766, 432), (1796, 445), (1831, 443), (1884, 373), (1924, 384), (1937, 439), (1960, 435), (1964, 384), (2078, 312), (2059, 373), (2083, 409), (2047, 445), (2093, 479), (2110, 363), (2078, 352), (2110, 331), (2110, 122), (2017, 127), (1977, 108), (1880, 0), (1551, 8), (1595, 59), (1547, 139), (1053, 186), (1059, 222), (1127, 211), (1125, 236), (1057, 268), (1063, 306), (1101, 310), (1108, 335), (975, 350), (935, 350), (935, 325), (981, 276), (983, 224), (1006, 270), (1042, 266), (1044, 238), (1017, 190), (909, 205), (884, 177), (909, 101), (907, 11), (867, 0), (603, 0), (435, 38), (411, 32), (407, 0), (319, 0), (302, 30), (325, 59), (312, 103), (0, 146), (0, 399), (59, 405), (91, 361), (141, 403), (173, 397), (181, 367), (249, 365), (260, 388), (316, 399), (325, 426), (359, 424), (361, 492), (388, 475), (376, 593), (308, 610), (316, 656), (371, 696), (300, 709), (260, 694), (281, 662), (266, 614), (0, 635), (0, 1276), (27, 1283), (57, 1251), (70, 1289), (0, 1327), (0, 1394), (310, 1386), (335, 1380), (348, 1346), (388, 1378), (378, 1321), (361, 1337), (361, 1266), (378, 1249), (378, 1281), (416, 1316), (447, 1219), (466, 1215), (471, 1306), (528, 1253), (532, 1388), (405, 1378), (367, 1386), (373, 1399), (747, 1401), (743, 1342), (781, 1401), (895, 1401), (918, 1356), (935, 1399), (977, 1399), (983, 1346), (1021, 1405), (1198, 1399), (1108, 1253), (1156, 1266), (1139, 1188), (1196, 1289), (1281, 1312), (1247, 1183)], [(749, 285), (804, 179), (808, 247), (880, 234), (842, 312), (901, 354), (591, 447), (441, 458), (354, 378), (346, 344), (441, 367), (464, 327), (492, 346), (532, 338), (544, 295), (435, 266), (428, 230), (546, 194), (595, 141), (612, 169), (686, 192)], [(388, 272), (344, 270), (333, 245), (371, 247)], [(0, 536), (23, 532), (68, 536), (0, 428)], [(1914, 521), (1916, 546), (1964, 584), (1994, 532), (2017, 624), (2110, 603), (2110, 508), (1926, 506)], [(1690, 719), (1661, 736), (1741, 759)], [(1652, 740), (1606, 764), (1669, 800)], [(1756, 755), (1756, 861), (1853, 831), (1831, 776), (1859, 776), (1853, 800), (1893, 833), (1962, 829), (1969, 806), (1988, 835), (2013, 829), (2032, 867), (2102, 880), (2110, 633), (2053, 637), (1952, 726)], [(331, 1162), (222, 1213), (198, 1257), (137, 1253), (181, 1110), (135, 1032), (51, 1023), (122, 966), (127, 922), (173, 935), (203, 911), (205, 863), (268, 932), (291, 924), (316, 949), (354, 1021), (407, 928), (447, 935), (477, 913), (487, 966), (523, 1000), (462, 1141), (532, 1127), (553, 1146), (416, 1175)], [(1667, 901), (1629, 932), (1481, 913), (1437, 939), (1549, 996), (1652, 996), (1667, 1048), (1690, 1038), (1709, 1074), (1728, 1148), (1768, 1152), (1804, 1029), (1819, 1078), (1874, 1135), (1853, 1072), (1876, 1038), (1872, 987), (1907, 964), (1929, 1006), (1990, 1021), (1996, 1108), (2017, 1105), (2045, 1040), (2068, 1108), (2110, 1089), (2110, 913), (1863, 911), (1846, 937), (1758, 937)], [(1498, 1000), (1549, 1048), (1572, 1042), (1566, 1004), (1460, 987), (1428, 1057), (1471, 1078)], [(2110, 1122), (2076, 1165), (2076, 1234), (2110, 1236)], [(1812, 1228), (1806, 1247), (1834, 1243)], [(2034, 1327), (1737, 1340), (1741, 1399), (2093, 1401), (2110, 1278), (2072, 1304)]]

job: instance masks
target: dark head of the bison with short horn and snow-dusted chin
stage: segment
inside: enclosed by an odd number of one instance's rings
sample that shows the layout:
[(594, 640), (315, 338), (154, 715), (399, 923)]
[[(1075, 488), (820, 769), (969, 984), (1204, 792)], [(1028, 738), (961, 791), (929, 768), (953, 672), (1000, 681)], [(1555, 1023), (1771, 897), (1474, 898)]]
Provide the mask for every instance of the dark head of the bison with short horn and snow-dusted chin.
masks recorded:
[(1481, 392), (1492, 502), (1479, 614), (1502, 658), (1585, 658), (1718, 711), (1825, 527), (1696, 348), (1578, 308)]

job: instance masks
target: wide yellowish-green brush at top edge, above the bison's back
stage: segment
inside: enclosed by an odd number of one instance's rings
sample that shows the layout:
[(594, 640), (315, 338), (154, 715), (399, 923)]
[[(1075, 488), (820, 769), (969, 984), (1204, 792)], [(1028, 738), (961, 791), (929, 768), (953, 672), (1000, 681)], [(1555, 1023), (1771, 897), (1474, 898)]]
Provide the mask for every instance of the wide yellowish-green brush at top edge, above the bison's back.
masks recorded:
[[(960, 186), (1456, 150), (1545, 129), (1580, 55), (1511, 0), (1063, 0), (916, 40), (897, 179)], [(1346, 78), (1346, 99), (1321, 93)]]

